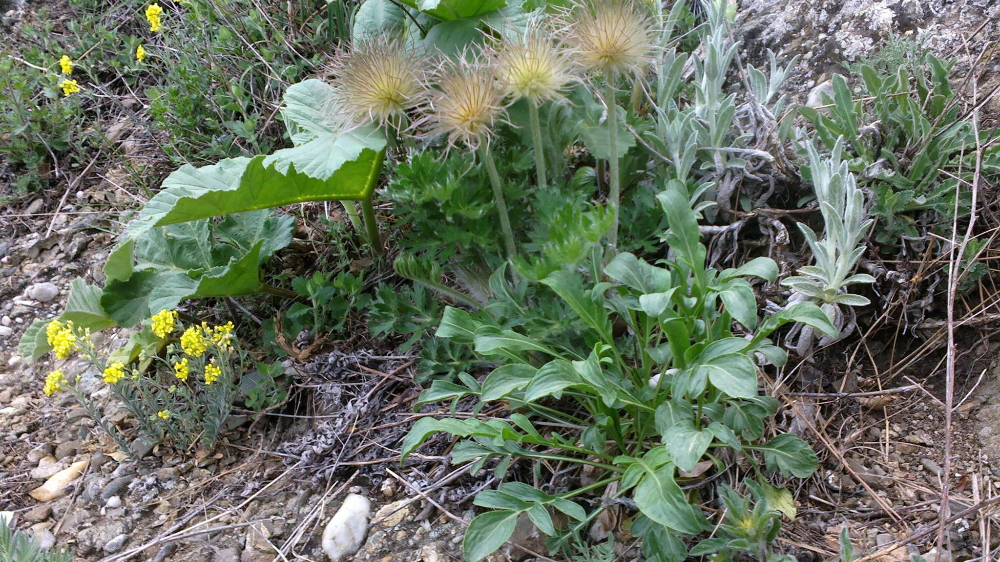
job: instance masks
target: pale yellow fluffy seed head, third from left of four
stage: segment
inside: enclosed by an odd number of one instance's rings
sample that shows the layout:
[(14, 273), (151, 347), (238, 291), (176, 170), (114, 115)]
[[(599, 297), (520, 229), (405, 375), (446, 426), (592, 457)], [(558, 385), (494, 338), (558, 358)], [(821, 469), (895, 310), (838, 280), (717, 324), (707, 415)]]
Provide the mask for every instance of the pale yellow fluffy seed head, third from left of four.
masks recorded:
[(489, 57), (507, 94), (528, 98), (535, 105), (564, 100), (563, 90), (576, 80), (567, 53), (538, 21), (523, 35), (505, 37), (490, 50)]

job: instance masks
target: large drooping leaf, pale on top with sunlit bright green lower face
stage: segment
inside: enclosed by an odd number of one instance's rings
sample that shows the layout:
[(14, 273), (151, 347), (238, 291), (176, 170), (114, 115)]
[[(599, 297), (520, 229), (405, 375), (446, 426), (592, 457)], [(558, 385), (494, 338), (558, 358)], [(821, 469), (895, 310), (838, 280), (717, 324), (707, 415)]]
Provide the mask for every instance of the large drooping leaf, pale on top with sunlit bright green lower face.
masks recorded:
[(137, 238), (154, 226), (292, 203), (365, 200), (378, 180), (384, 149), (381, 132), (360, 128), (323, 132), (270, 156), (182, 166), (163, 181), (128, 234)]

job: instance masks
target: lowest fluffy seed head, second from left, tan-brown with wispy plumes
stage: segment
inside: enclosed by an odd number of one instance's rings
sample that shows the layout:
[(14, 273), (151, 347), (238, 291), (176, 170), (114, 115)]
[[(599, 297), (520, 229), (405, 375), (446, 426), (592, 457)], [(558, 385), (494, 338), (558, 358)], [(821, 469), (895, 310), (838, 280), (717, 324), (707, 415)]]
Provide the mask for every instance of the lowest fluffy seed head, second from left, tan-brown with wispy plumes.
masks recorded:
[(489, 142), (493, 126), (504, 113), (504, 91), (492, 69), (478, 57), (447, 59), (433, 73), (424, 116), (417, 126), (424, 136), (448, 135), (448, 147), (458, 141), (470, 150)]

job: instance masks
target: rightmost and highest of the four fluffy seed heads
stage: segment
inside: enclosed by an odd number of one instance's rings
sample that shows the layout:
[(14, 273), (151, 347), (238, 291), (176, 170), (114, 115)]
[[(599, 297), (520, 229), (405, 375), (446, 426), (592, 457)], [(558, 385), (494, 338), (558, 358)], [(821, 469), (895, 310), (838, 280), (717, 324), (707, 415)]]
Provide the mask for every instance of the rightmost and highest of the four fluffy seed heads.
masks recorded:
[(626, 74), (651, 60), (652, 21), (630, 0), (576, 2), (560, 19), (563, 39), (588, 70)]

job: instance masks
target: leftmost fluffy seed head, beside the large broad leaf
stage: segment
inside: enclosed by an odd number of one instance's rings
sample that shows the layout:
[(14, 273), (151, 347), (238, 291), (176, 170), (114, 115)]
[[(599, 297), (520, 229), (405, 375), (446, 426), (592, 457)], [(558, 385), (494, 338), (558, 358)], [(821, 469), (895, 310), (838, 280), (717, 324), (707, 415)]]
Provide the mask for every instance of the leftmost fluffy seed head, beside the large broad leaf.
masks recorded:
[(425, 66), (424, 57), (398, 39), (364, 41), (338, 51), (328, 69), (336, 80), (338, 119), (348, 125), (385, 126), (405, 115), (420, 103)]

